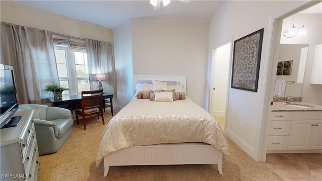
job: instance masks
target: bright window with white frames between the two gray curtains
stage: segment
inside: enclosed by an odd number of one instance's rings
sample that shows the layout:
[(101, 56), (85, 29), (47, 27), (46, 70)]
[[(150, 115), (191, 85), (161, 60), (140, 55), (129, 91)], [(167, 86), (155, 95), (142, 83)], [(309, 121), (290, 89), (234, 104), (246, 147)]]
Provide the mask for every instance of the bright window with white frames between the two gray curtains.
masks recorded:
[(70, 94), (91, 90), (86, 50), (72, 49), (66, 45), (54, 45), (54, 48), (59, 84), (70, 87)]

